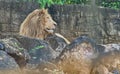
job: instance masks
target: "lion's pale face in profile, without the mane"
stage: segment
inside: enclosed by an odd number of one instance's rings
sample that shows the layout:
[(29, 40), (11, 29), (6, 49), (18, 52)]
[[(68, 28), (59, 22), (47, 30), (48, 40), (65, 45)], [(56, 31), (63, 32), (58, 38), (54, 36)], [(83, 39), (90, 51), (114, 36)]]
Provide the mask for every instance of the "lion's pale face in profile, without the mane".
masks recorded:
[(42, 9), (39, 16), (43, 30), (48, 34), (53, 34), (57, 23), (52, 19), (50, 14), (48, 14), (47, 9)]

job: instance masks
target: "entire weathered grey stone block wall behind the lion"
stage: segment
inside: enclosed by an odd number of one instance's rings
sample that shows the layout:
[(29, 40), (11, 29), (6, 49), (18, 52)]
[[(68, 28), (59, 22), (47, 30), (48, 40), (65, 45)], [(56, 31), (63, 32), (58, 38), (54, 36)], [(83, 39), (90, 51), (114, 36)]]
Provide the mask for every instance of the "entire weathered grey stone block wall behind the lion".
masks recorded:
[[(18, 34), (20, 24), (39, 4), (0, 0), (0, 38)], [(56, 32), (69, 40), (88, 35), (97, 43), (120, 42), (120, 10), (81, 5), (53, 5), (49, 12), (58, 23)]]

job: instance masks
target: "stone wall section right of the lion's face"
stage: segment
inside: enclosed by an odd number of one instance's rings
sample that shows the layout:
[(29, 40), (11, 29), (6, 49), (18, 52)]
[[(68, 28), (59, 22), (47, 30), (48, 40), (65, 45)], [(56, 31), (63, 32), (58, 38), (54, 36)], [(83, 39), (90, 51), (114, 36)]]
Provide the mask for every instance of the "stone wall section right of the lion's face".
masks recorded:
[(95, 6), (52, 6), (58, 32), (72, 40), (88, 35), (97, 43), (120, 42), (120, 10)]

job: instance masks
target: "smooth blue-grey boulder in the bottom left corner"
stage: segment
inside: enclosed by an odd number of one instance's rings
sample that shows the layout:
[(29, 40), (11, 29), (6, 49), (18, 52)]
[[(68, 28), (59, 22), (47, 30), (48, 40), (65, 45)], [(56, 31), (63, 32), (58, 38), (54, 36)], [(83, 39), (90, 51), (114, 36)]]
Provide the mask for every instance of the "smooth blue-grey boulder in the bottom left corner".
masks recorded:
[(13, 57), (0, 50), (0, 74), (21, 74), (20, 68)]

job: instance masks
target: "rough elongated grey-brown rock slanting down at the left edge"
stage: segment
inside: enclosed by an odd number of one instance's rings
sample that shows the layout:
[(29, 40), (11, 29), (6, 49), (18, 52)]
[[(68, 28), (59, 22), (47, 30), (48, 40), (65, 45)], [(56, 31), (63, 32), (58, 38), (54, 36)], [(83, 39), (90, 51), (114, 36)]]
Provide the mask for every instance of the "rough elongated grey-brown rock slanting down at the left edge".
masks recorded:
[(0, 43), (4, 44), (4, 51), (12, 56), (20, 67), (25, 66), (29, 54), (15, 38), (1, 39)]

